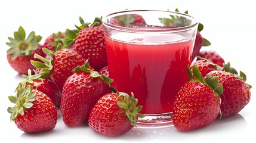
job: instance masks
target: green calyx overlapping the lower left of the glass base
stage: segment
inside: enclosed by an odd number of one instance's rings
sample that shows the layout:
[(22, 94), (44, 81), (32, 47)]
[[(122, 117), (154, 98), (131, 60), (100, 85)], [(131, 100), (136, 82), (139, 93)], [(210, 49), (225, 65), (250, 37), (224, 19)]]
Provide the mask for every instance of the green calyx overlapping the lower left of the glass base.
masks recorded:
[(120, 108), (123, 108), (125, 110), (125, 114), (127, 115), (127, 118), (129, 122), (131, 122), (132, 126), (137, 126), (137, 120), (138, 117), (143, 118), (144, 114), (140, 114), (141, 108), (143, 108), (141, 105), (138, 105), (137, 98), (134, 98), (134, 94), (131, 92), (131, 96), (128, 94), (125, 94), (123, 92), (119, 93), (119, 100), (118, 106)]

